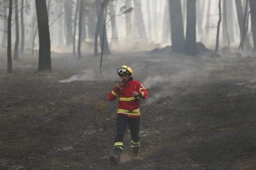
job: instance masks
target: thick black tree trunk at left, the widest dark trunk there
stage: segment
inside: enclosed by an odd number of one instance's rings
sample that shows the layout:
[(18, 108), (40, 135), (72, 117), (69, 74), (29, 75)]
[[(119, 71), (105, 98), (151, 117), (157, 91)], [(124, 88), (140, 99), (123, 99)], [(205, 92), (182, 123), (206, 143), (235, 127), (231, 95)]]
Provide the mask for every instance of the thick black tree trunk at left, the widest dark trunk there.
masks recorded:
[(39, 36), (38, 71), (52, 71), (50, 33), (46, 0), (35, 0)]

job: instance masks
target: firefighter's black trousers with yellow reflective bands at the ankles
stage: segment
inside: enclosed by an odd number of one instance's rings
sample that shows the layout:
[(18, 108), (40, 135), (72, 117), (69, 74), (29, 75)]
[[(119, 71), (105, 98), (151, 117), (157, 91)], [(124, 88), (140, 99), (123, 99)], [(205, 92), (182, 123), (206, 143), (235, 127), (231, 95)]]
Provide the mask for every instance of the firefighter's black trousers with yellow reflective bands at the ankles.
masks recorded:
[[(116, 116), (116, 143), (123, 143), (123, 137), (125, 135), (127, 124), (129, 125), (131, 131), (131, 145), (132, 147), (139, 146), (139, 131), (140, 131), (140, 117), (139, 118), (129, 118), (122, 114), (117, 114)], [(120, 146), (120, 145), (119, 145)], [(122, 146), (120, 146), (122, 147)]]

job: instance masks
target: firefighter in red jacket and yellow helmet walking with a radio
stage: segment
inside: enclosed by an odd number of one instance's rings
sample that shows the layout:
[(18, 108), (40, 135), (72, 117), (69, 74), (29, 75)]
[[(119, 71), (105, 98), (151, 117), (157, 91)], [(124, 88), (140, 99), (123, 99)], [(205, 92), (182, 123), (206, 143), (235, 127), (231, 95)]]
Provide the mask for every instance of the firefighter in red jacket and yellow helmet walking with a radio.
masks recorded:
[(109, 160), (119, 164), (120, 155), (123, 150), (123, 137), (125, 135), (127, 124), (131, 132), (131, 147), (135, 159), (139, 159), (139, 125), (140, 125), (140, 99), (148, 97), (147, 90), (139, 81), (131, 77), (133, 70), (123, 65), (117, 69), (117, 74), (122, 78), (113, 90), (108, 94), (108, 99), (114, 101), (118, 99), (116, 114), (116, 138), (114, 141), (113, 153)]

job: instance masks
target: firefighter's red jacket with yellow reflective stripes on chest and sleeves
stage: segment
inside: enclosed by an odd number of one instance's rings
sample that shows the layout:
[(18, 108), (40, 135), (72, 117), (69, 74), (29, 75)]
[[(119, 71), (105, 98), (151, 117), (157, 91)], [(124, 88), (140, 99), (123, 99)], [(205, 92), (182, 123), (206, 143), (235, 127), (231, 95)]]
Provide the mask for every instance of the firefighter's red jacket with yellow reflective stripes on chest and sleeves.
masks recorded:
[[(131, 93), (138, 92), (139, 96), (133, 97)], [(124, 114), (127, 117), (137, 118), (140, 115), (140, 99), (148, 98), (147, 90), (139, 81), (131, 80), (125, 83), (125, 86), (119, 90), (114, 87), (108, 94), (108, 99), (114, 101), (118, 98), (117, 114)]]

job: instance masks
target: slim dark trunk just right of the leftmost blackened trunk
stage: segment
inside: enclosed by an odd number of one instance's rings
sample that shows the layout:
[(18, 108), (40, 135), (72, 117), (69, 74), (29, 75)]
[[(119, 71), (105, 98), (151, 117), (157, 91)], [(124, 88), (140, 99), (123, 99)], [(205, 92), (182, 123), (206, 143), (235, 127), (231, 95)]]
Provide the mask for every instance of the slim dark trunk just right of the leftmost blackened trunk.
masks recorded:
[(18, 0), (14, 1), (15, 3), (15, 30), (16, 30), (16, 40), (15, 40), (15, 47), (14, 47), (14, 60), (18, 60), (18, 48), (20, 42), (20, 33), (19, 33), (19, 19), (18, 19)]

